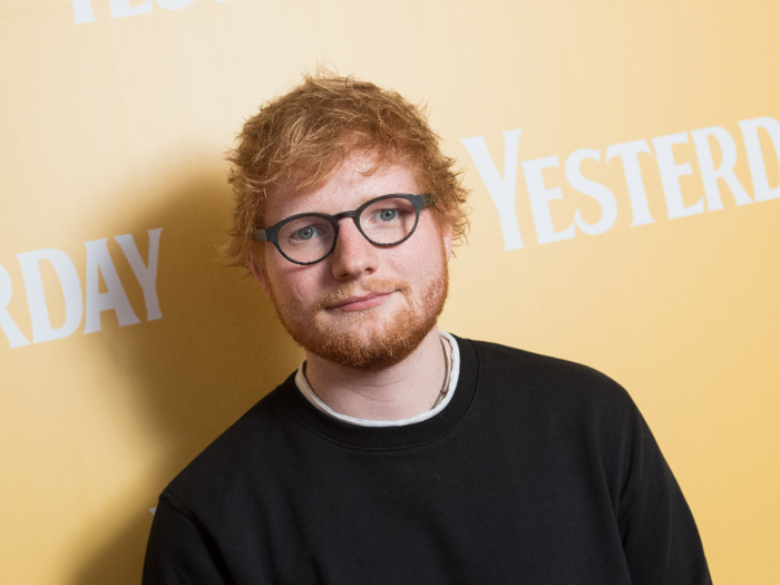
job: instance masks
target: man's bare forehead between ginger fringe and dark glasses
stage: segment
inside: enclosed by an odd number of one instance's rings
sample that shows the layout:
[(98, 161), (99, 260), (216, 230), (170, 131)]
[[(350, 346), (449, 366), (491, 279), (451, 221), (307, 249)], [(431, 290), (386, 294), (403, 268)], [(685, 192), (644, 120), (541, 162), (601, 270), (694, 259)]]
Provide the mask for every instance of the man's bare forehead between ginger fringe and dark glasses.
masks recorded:
[(371, 155), (355, 154), (320, 186), (296, 192), (281, 187), (269, 193), (265, 202), (266, 226), (306, 212), (337, 214), (391, 193), (419, 193), (417, 173), (402, 162), (376, 165)]

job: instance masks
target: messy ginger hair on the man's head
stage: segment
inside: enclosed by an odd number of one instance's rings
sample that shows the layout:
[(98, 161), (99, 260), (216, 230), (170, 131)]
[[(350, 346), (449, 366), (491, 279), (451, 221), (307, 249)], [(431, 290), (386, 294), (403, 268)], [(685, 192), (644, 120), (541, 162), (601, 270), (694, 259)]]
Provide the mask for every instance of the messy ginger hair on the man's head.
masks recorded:
[(246, 120), (228, 154), (235, 209), (223, 260), (247, 265), (252, 232), (261, 226), (270, 193), (316, 188), (352, 153), (362, 152), (373, 155), (367, 174), (387, 164), (409, 165), (421, 188), (436, 196), (438, 221), (450, 225), (459, 242), (468, 231), (468, 191), (439, 140), (426, 109), (396, 91), (323, 70), (305, 75), (301, 85)]

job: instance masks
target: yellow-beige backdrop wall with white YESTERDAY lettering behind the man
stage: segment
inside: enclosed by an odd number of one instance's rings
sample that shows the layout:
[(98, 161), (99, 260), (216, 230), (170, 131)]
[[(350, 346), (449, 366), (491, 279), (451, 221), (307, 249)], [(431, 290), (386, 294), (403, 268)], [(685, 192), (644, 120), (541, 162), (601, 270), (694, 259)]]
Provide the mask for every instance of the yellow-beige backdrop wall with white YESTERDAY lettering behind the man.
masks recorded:
[(617, 379), (715, 583), (780, 583), (779, 28), (768, 0), (3, 0), (0, 582), (138, 583), (157, 494), (296, 365), (216, 264), (223, 154), (330, 61), (428, 103), (465, 167), (443, 329)]

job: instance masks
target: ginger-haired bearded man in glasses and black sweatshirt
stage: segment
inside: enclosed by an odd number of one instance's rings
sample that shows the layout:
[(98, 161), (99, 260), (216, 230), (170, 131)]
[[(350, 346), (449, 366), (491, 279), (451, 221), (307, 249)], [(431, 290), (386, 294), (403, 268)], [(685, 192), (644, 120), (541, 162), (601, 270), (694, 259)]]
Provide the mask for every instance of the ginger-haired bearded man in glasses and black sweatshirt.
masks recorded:
[(306, 77), (244, 126), (226, 255), (305, 350), (160, 497), (153, 584), (706, 584), (628, 396), (437, 329), (466, 192), (398, 94)]

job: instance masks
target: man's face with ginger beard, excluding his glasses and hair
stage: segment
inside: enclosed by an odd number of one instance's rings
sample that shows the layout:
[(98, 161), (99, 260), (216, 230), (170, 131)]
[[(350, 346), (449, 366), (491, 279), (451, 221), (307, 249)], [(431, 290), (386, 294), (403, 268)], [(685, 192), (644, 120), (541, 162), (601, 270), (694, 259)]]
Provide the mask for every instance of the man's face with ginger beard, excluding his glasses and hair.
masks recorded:
[[(421, 194), (410, 167), (382, 166), (353, 155), (323, 186), (305, 194), (274, 193), (264, 226), (291, 215), (335, 215), (391, 193)], [(306, 351), (363, 370), (406, 358), (436, 324), (447, 296), (451, 231), (422, 209), (412, 236), (392, 247), (368, 242), (351, 218), (340, 222), (335, 248), (308, 266), (264, 246), (264, 267), (253, 267), (292, 338)]]

